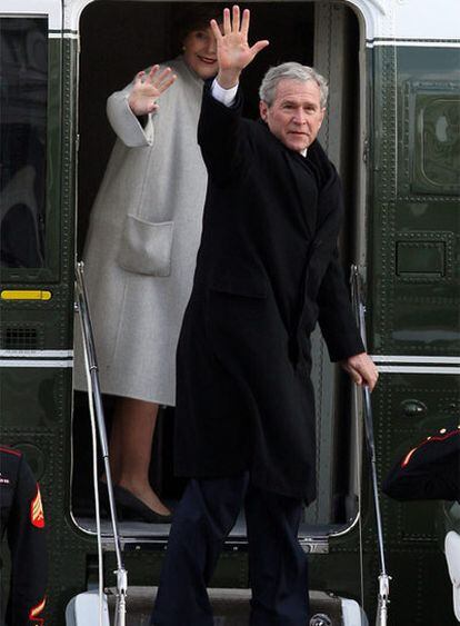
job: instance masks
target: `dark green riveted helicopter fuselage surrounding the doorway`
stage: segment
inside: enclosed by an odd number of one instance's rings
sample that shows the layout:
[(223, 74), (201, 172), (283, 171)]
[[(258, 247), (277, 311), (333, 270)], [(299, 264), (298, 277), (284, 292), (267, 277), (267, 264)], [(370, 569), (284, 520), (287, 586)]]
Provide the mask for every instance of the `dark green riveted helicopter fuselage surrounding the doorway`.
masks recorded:
[[(44, 261), (1, 268), (2, 292), (51, 291), (49, 300), (0, 300), (0, 440), (26, 453), (41, 484), (49, 626), (63, 624), (67, 603), (97, 572), (96, 539), (74, 523), (70, 488), (73, 393), (66, 351), (73, 347), (78, 54), (73, 37), (48, 40)], [(459, 424), (458, 367), (440, 361), (460, 354), (459, 67), (453, 44), (394, 42), (369, 46), (360, 70), (367, 141), (366, 219), (359, 228), (366, 241), (369, 352), (381, 367), (372, 397), (379, 477), (424, 437)], [(32, 356), (26, 358), (29, 350), (59, 354), (33, 364)], [(400, 362), (392, 358), (398, 356), (410, 358)], [(362, 558), (363, 606), (372, 620), (379, 559), (364, 450), (360, 458), (360, 523), (330, 537), (324, 554), (311, 554), (310, 576), (311, 588), (360, 602)], [(448, 506), (386, 497), (381, 503), (392, 576), (389, 624), (453, 625), (442, 553)], [(139, 545), (143, 549), (134, 549)], [(161, 537), (149, 546), (128, 545), (131, 585), (158, 582), (163, 545)], [(113, 569), (108, 552), (109, 585)], [(248, 584), (244, 548), (226, 552), (213, 585)]]

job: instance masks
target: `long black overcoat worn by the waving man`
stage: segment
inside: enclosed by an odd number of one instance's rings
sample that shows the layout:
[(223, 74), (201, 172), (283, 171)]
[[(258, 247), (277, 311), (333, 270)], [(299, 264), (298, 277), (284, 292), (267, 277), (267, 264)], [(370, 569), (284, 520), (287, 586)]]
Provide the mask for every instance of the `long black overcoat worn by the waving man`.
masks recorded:
[(337, 172), (262, 121), (203, 92), (198, 140), (209, 182), (192, 295), (178, 346), (177, 474), (249, 469), (254, 485), (316, 497), (309, 336), (330, 357), (363, 351), (337, 259)]

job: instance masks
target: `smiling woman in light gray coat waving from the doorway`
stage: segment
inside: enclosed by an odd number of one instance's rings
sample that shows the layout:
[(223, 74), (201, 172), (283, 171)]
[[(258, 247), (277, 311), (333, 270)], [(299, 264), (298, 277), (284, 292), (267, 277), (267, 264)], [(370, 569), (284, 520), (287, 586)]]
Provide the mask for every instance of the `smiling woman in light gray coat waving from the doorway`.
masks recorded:
[[(201, 236), (207, 172), (197, 125), (203, 80), (218, 70), (211, 17), (212, 6), (194, 10), (182, 56), (110, 96), (118, 139), (83, 255), (101, 389), (118, 396), (116, 497), (149, 521), (170, 513), (149, 465), (158, 407), (176, 403), (176, 347)], [(74, 386), (86, 388), (81, 358)]]

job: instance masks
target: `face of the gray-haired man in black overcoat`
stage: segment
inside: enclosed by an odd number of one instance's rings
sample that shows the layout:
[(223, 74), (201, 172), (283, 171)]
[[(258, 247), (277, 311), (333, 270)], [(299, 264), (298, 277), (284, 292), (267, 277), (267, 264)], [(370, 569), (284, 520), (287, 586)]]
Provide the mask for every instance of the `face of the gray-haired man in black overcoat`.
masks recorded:
[(290, 150), (301, 152), (317, 138), (326, 109), (320, 105), (320, 89), (314, 80), (282, 79), (271, 107), (260, 102), (260, 117), (271, 132)]

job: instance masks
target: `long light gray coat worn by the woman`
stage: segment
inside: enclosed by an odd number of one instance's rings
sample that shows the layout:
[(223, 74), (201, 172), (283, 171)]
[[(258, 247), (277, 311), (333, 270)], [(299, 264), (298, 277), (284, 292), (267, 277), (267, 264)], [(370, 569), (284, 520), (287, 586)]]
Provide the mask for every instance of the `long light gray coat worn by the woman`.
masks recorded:
[[(102, 391), (174, 405), (207, 171), (197, 143), (203, 82), (181, 58), (167, 64), (178, 78), (146, 127), (129, 108), (131, 85), (108, 99), (118, 139), (83, 259)], [(74, 380), (86, 389), (79, 341)]]

